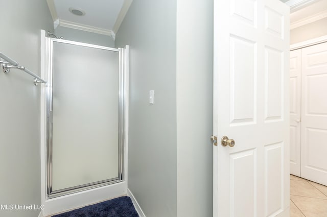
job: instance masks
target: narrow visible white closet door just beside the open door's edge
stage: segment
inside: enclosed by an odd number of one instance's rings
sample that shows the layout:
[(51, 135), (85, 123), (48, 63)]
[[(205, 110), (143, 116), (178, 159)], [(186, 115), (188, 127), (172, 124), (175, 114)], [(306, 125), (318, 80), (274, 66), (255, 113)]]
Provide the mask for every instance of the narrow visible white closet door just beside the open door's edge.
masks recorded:
[(291, 174), (301, 176), (301, 50), (290, 52)]

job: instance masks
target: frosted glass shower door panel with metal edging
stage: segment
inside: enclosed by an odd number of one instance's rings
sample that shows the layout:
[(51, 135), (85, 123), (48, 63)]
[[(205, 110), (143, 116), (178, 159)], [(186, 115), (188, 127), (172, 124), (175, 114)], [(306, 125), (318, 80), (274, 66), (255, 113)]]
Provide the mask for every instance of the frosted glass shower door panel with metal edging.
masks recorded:
[(48, 196), (122, 179), (122, 49), (51, 43)]

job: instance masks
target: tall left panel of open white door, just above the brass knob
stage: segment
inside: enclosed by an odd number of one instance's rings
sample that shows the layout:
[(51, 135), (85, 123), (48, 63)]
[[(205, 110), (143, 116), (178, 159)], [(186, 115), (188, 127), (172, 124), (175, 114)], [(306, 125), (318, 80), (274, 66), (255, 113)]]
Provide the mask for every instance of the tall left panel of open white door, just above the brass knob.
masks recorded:
[(255, 121), (255, 47), (253, 41), (230, 37), (230, 125), (253, 124)]

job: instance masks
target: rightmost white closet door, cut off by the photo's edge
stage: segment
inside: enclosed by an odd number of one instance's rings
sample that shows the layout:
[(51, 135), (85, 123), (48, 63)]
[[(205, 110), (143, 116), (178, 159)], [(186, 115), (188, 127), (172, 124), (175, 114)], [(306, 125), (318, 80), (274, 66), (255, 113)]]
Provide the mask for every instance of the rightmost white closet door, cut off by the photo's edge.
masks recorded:
[(301, 177), (327, 185), (327, 43), (302, 49)]

